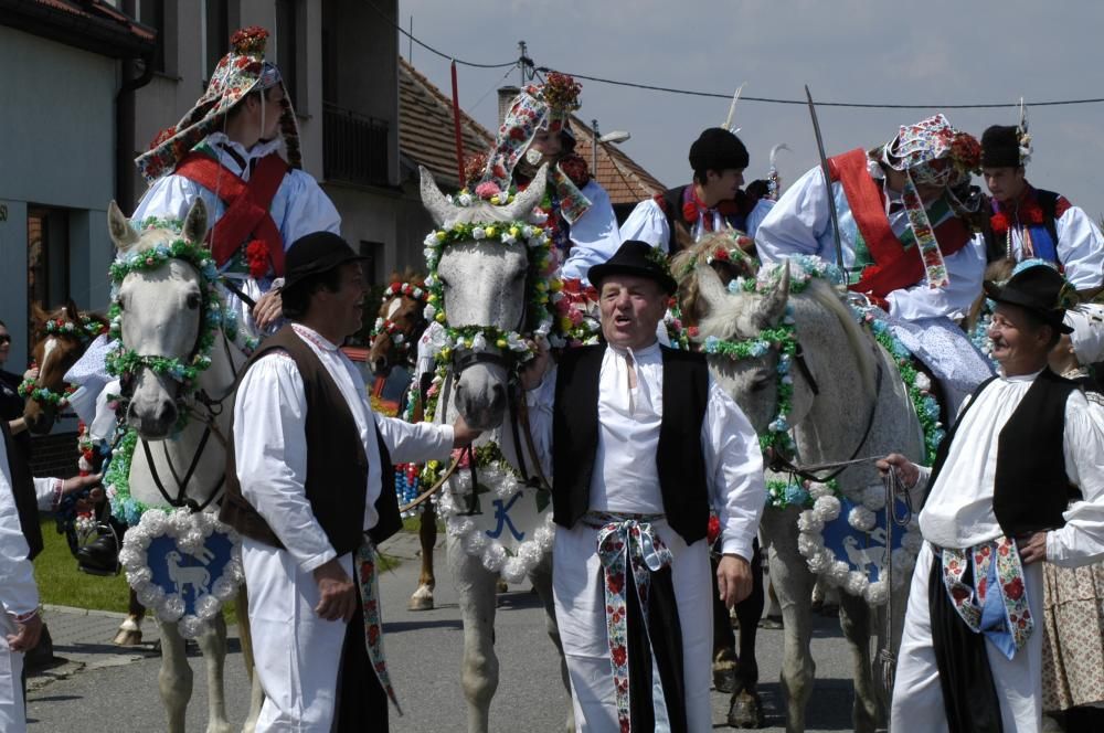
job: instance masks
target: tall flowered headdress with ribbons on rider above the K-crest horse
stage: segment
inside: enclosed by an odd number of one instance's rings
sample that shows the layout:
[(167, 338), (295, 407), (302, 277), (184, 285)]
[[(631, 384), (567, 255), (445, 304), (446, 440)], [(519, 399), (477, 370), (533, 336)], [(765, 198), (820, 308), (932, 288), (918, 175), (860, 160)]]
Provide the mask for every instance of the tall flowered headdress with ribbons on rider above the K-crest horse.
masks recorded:
[[(529, 145), (542, 130), (570, 134), (571, 113), (578, 109), (582, 85), (566, 74), (552, 72), (544, 84), (531, 84), (521, 91), (506, 118), (498, 128), (495, 148), (487, 157), (484, 181), (491, 181), (499, 190), (507, 191), (512, 182), (513, 169), (526, 155)], [(549, 170), (549, 182), (560, 200), (560, 211), (569, 223), (574, 223), (591, 208), (591, 202), (578, 187), (561, 170)]]

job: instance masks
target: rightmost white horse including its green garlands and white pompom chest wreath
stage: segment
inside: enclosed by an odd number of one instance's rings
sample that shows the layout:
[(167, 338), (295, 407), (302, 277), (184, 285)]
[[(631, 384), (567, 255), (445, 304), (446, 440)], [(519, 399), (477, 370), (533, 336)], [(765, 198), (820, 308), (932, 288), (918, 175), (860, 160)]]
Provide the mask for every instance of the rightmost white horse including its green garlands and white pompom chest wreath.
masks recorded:
[[(693, 340), (760, 433), (777, 471), (768, 475), (762, 531), (773, 548), (771, 577), (783, 602), (787, 730), (805, 730), (813, 691), (814, 574), (846, 591), (840, 618), (856, 661), (853, 722), (856, 730), (873, 730), (887, 690), (871, 676), (870, 635), (877, 630), (880, 647), (894, 648), (890, 639), (900, 637), (905, 604), (893, 601), (891, 623), (870, 607), (884, 608), (891, 593), (907, 592), (921, 537), (913, 518), (895, 531), (892, 553), (871, 550), (871, 556), (892, 556), (877, 575), (848, 562), (847, 542), (837, 553), (829, 538), (853, 535), (878, 550), (884, 549), (880, 542), (890, 545), (891, 519), (875, 514), (890, 506), (870, 459), (891, 452), (917, 463), (930, 458), (942, 437), (938, 406), (926, 392), (927, 378), (911, 366), (887, 323), (840, 298), (830, 264), (795, 257), (725, 283), (707, 264), (708, 247), (703, 242), (673, 269), (681, 275)], [(831, 468), (811, 470), (822, 465)], [(802, 479), (817, 480), (785, 478), (799, 471)]]

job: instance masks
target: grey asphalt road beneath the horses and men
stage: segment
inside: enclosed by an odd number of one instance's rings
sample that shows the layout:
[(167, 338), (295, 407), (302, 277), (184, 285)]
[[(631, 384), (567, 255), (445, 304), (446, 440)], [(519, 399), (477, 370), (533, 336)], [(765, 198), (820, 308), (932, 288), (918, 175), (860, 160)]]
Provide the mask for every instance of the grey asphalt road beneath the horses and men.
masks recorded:
[[(393, 543), (392, 554), (412, 557), (412, 535)], [(460, 690), (459, 663), (463, 635), (456, 594), (442, 550), (437, 551), (443, 576), (438, 578), (437, 608), (406, 610), (406, 597), (415, 587), (417, 562), (410, 559), (384, 574), (381, 595), (389, 667), (405, 715), (392, 712), (395, 733), (426, 733), (465, 730), (465, 701)], [(149, 646), (120, 651), (109, 645), (114, 618), (74, 617), (50, 610), (47, 623), (55, 630), (55, 654), (71, 659), (52, 670), (50, 677), (34, 678), (29, 695), (30, 731), (164, 730), (164, 713), (157, 692), (160, 659)], [(528, 586), (511, 586), (501, 596), (497, 612), (497, 642), (500, 684), (491, 707), (491, 730), (558, 732), (563, 730), (567, 698), (560, 682), (559, 666), (535, 594)], [(75, 630), (74, 627), (75, 626)], [(156, 634), (147, 625), (147, 637)], [(233, 630), (232, 630), (233, 634)], [(82, 638), (91, 637), (91, 638)], [(768, 731), (784, 730), (778, 668), (782, 631), (761, 629), (757, 642), (761, 694)], [(850, 655), (832, 618), (817, 618), (813, 641), (818, 680), (809, 705), (809, 731), (851, 730)], [(203, 659), (190, 659), (194, 670), (194, 692), (189, 708), (188, 731), (206, 730), (206, 689)], [(244, 721), (248, 686), (236, 637), (226, 660), (226, 699), (230, 720)], [(713, 721), (724, 724), (728, 695), (713, 692)]]

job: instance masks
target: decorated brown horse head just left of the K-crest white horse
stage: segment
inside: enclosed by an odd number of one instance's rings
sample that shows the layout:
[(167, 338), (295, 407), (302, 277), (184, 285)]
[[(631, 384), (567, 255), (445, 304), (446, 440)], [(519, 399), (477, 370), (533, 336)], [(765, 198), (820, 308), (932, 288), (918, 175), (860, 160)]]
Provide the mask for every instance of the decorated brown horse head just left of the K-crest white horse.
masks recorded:
[(421, 275), (392, 274), (391, 284), (383, 291), (368, 350), (368, 363), (376, 376), (386, 376), (392, 366), (411, 363), (416, 358), (415, 344), (427, 326), (427, 295), (425, 278)]

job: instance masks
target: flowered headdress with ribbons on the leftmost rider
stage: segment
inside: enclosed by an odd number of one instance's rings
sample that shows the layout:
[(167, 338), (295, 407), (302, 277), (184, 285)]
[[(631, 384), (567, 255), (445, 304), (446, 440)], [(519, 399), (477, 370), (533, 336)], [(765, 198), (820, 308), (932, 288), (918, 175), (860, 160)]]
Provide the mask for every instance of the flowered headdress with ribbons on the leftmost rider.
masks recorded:
[(280, 136), (293, 168), (301, 168), (299, 153), (299, 126), (296, 123), (291, 99), (284, 87), (279, 70), (265, 61), (268, 31), (257, 25), (243, 28), (230, 38), (231, 50), (215, 66), (206, 92), (195, 106), (173, 127), (161, 130), (148, 152), (135, 159), (138, 170), (148, 181), (155, 181), (176, 167), (212, 132), (222, 130), (226, 114), (252, 92), (262, 92), (279, 85), (284, 88), (280, 102)]

